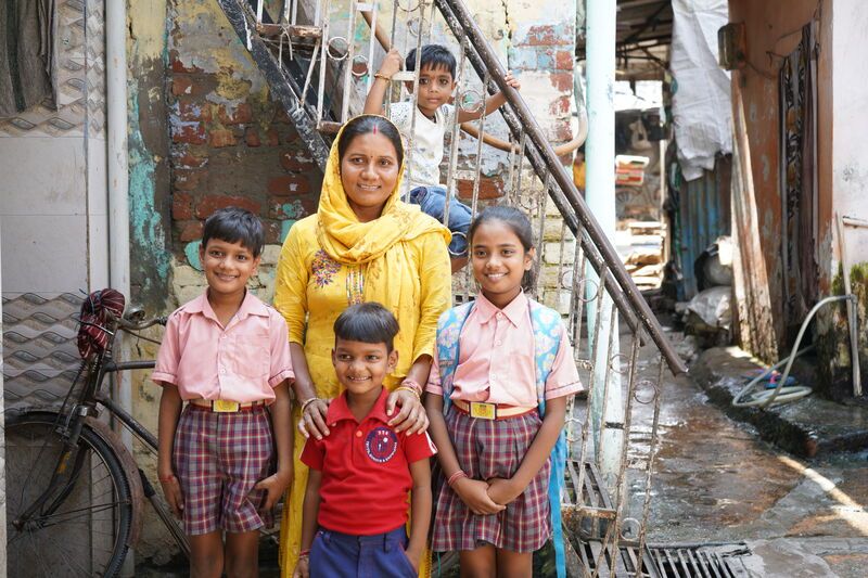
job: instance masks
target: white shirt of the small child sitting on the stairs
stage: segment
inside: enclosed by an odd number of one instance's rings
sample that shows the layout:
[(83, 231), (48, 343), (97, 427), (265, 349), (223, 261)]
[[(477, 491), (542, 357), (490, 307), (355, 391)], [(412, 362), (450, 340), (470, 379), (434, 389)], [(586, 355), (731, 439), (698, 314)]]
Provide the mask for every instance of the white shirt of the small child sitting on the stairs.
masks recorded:
[[(416, 112), (416, 131), (410, 145), (410, 125), (412, 124), (412, 102), (396, 102), (390, 107), (390, 119), (404, 137), (405, 169), (401, 194), (417, 187), (441, 184), (441, 163), (443, 162), (443, 141), (446, 130), (452, 128), (455, 106), (444, 104), (427, 118), (421, 111)], [(409, 177), (409, 179), (407, 178)]]

